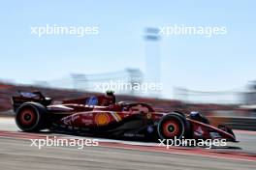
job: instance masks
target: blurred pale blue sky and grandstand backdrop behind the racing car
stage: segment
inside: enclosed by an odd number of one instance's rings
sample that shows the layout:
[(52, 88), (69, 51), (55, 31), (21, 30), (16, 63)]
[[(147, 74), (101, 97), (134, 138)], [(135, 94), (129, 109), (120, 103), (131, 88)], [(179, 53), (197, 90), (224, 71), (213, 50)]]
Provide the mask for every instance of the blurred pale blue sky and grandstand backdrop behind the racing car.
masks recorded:
[[(153, 82), (116, 90), (118, 100), (157, 110), (202, 111), (212, 122), (256, 130), (254, 1), (0, 2), (0, 111), (40, 90), (55, 100), (103, 93), (97, 84)], [(31, 27), (97, 26), (99, 34), (31, 34)], [(225, 35), (160, 34), (165, 26), (225, 27)]]

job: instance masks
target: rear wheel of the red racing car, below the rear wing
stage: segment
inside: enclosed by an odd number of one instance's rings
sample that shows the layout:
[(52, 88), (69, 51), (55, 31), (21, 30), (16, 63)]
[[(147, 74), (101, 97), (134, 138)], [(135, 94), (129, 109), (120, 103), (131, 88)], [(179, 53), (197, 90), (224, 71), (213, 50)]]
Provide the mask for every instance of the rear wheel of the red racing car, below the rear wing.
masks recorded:
[(47, 108), (37, 102), (25, 102), (16, 111), (16, 125), (23, 131), (47, 128)]

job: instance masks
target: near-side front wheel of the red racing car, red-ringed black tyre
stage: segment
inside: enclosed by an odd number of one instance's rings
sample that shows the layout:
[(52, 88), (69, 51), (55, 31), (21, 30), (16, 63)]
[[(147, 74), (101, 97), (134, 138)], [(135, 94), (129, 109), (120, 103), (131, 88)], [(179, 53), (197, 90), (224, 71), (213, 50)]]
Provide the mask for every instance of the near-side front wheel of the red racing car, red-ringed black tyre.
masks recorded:
[(158, 123), (157, 133), (161, 139), (180, 139), (189, 132), (189, 125), (186, 118), (172, 112), (164, 116)]

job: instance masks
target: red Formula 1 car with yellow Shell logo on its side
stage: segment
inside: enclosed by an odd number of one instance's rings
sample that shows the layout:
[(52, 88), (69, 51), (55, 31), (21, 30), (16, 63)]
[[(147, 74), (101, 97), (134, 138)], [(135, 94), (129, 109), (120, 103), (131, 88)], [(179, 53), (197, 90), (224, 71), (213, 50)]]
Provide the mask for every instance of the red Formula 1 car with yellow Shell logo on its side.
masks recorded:
[(16, 125), (23, 131), (50, 129), (111, 138), (156, 139), (226, 139), (236, 141), (230, 128), (209, 125), (194, 112), (156, 112), (146, 103), (115, 103), (112, 93), (52, 104), (40, 92), (19, 93), (13, 97)]

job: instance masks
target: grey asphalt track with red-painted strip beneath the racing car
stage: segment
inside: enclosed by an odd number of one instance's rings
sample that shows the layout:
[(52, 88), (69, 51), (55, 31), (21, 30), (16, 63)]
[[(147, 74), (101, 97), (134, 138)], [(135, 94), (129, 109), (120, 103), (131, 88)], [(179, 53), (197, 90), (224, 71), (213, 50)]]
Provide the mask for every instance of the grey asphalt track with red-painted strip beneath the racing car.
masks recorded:
[(25, 133), (16, 128), (14, 119), (0, 119), (0, 169), (256, 169), (256, 132), (235, 131), (240, 143), (229, 148), (204, 149), (159, 147), (154, 143), (99, 139), (99, 146), (31, 146), (30, 139), (48, 136), (80, 139), (52, 133)]

